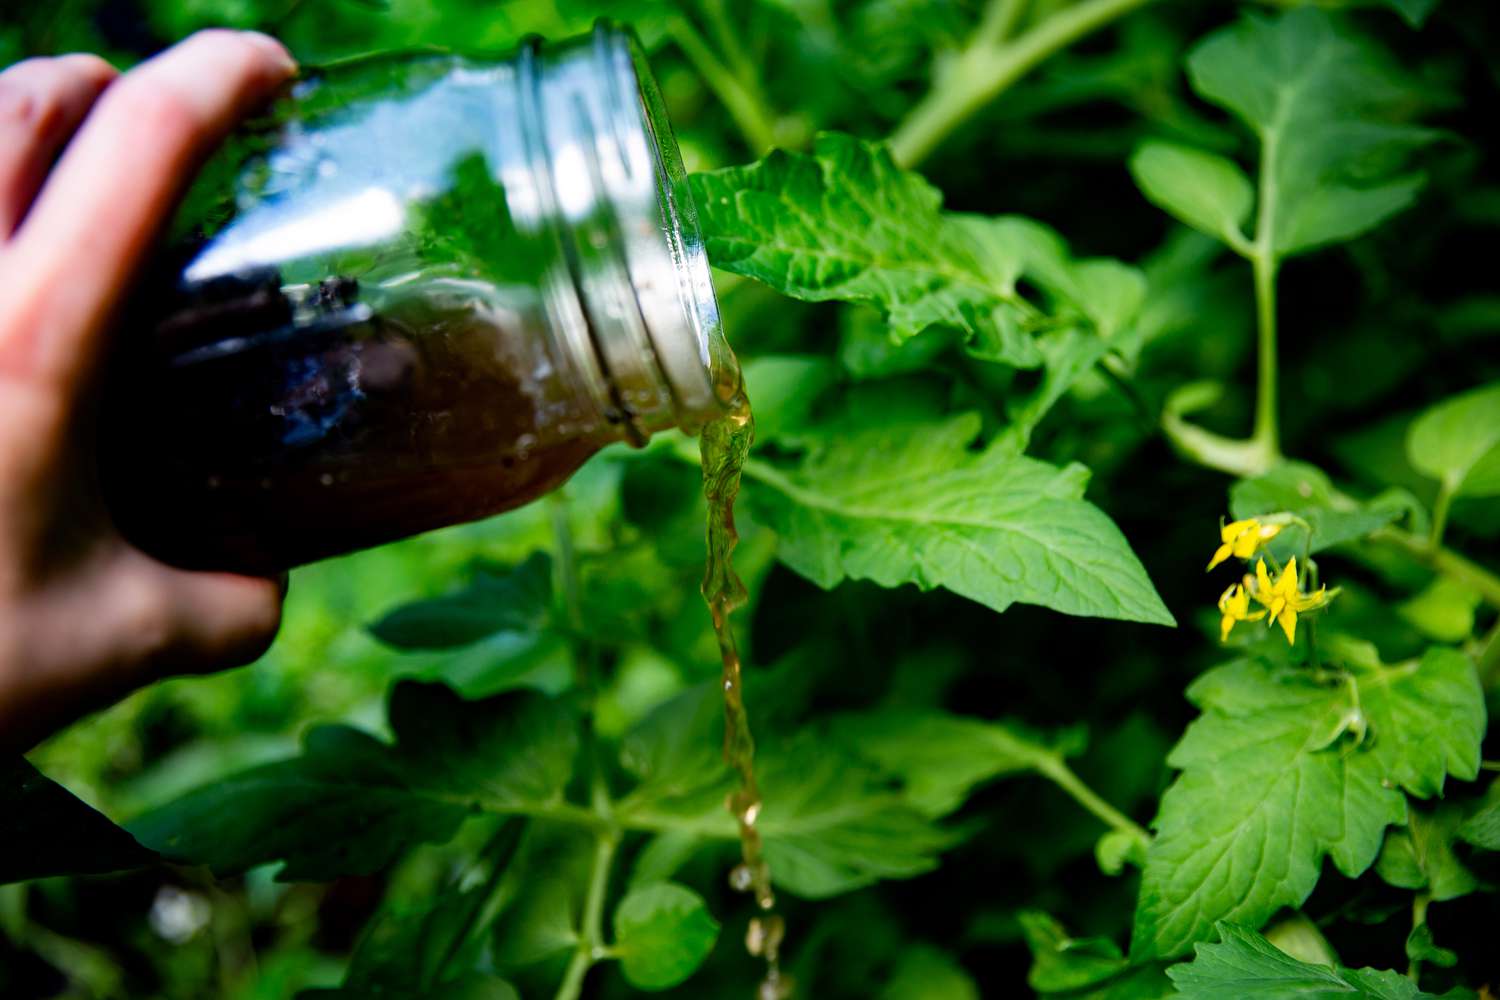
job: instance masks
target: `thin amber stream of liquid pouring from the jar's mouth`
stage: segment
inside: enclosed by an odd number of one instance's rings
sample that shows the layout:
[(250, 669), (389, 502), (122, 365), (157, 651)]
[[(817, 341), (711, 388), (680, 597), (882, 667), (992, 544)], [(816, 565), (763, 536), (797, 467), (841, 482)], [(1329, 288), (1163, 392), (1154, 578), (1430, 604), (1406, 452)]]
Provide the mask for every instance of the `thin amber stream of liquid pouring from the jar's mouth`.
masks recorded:
[(790, 982), (782, 976), (780, 948), (784, 924), (771, 889), (771, 868), (762, 850), (760, 787), (754, 777), (754, 738), (744, 705), (744, 679), (740, 651), (735, 646), (729, 616), (746, 603), (746, 586), (734, 568), (734, 549), (740, 541), (735, 529), (735, 498), (740, 495), (740, 474), (754, 439), (754, 417), (744, 388), (735, 394), (728, 414), (704, 427), (699, 453), (704, 463), (704, 496), (708, 501), (708, 567), (704, 573), (704, 601), (714, 619), (718, 655), (723, 660), (722, 688), (724, 694), (724, 762), (735, 772), (738, 787), (729, 795), (728, 808), (740, 829), (740, 864), (729, 874), (732, 888), (750, 892), (762, 912), (750, 922), (746, 946), (752, 955), (766, 961), (766, 976), (756, 994), (758, 1000), (782, 1000), (790, 996)]

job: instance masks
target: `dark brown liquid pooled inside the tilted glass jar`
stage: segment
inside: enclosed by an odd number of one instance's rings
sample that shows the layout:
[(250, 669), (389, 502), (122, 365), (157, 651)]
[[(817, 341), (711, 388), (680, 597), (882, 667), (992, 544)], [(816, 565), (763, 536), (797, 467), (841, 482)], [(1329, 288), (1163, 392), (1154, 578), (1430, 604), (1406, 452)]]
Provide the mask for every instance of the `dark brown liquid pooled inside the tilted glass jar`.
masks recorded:
[(542, 496), (620, 435), (513, 319), (478, 282), (375, 312), (350, 279), (294, 303), (270, 276), (180, 309), (112, 372), (122, 532), (176, 565), (278, 573)]

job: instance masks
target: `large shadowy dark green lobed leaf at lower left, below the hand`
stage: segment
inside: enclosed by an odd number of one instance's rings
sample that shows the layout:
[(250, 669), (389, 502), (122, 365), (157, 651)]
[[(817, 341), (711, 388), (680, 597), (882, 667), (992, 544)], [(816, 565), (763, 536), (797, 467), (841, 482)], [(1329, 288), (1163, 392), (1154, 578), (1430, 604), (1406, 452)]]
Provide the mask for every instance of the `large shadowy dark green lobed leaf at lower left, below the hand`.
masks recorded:
[(393, 745), (315, 729), (302, 757), (230, 775), (129, 829), (166, 858), (218, 873), (284, 859), (285, 882), (369, 874), (414, 844), (452, 838), (474, 811), (554, 805), (579, 747), (573, 714), (534, 693), (464, 702), (404, 681), (390, 726)]

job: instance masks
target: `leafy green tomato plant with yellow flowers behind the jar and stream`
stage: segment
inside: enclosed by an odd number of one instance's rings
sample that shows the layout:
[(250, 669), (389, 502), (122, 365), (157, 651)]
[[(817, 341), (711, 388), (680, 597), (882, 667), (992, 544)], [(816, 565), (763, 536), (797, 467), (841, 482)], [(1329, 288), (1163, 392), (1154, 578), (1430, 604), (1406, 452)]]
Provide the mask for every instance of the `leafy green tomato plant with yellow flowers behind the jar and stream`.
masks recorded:
[(776, 916), (666, 435), (10, 762), (6, 996), (1491, 996), (1488, 4), (64, 0), (0, 55), (602, 12), (754, 408)]

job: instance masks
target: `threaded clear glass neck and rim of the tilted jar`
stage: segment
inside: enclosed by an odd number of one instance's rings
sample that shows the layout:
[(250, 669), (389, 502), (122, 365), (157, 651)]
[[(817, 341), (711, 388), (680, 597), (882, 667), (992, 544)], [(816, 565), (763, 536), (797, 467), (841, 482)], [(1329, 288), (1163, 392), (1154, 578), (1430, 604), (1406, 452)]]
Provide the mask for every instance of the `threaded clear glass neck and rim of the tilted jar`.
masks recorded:
[(531, 40), (516, 85), (522, 208), (555, 238), (546, 307), (578, 388), (634, 444), (694, 432), (723, 414), (740, 370), (639, 42), (608, 22), (568, 45)]

